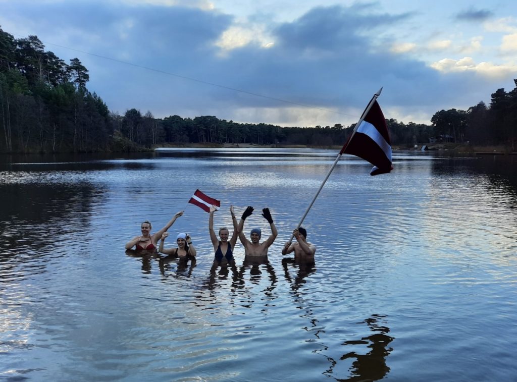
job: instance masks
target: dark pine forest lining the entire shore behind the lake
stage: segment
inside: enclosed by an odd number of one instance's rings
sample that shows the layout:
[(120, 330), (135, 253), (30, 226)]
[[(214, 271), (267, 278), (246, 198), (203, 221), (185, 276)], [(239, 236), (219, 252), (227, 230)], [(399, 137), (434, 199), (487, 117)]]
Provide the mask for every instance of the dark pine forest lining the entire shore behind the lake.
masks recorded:
[[(111, 113), (86, 88), (88, 70), (45, 51), (37, 36), (15, 39), (0, 28), (0, 152), (134, 151), (161, 144), (343, 144), (352, 126), (280, 127), (241, 124), (215, 116), (155, 118), (129, 109)], [(498, 89), (490, 106), (442, 110), (432, 125), (387, 119), (393, 145), (429, 142), (504, 144), (515, 149), (516, 88)]]

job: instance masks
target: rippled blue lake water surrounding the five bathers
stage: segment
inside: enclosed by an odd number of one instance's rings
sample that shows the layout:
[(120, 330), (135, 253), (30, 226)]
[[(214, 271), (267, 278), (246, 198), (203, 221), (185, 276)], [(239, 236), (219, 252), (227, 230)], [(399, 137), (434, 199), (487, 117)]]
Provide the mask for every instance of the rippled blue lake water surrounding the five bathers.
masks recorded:
[[(0, 157), (0, 379), (517, 380), (517, 156), (344, 156), (303, 226), (315, 264), (281, 249), (338, 150), (168, 149)], [(267, 261), (211, 271), (215, 226), (279, 235)], [(185, 209), (197, 261), (126, 252)], [(166, 247), (172, 246), (168, 240)]]

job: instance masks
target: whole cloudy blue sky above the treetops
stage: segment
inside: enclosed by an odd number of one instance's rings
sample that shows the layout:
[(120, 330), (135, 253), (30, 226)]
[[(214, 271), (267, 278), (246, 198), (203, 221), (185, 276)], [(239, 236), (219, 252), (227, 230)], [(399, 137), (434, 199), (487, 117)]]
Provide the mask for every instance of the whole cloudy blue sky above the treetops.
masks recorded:
[(89, 71), (120, 115), (349, 126), (430, 124), (517, 79), (509, 0), (0, 0), (0, 26)]

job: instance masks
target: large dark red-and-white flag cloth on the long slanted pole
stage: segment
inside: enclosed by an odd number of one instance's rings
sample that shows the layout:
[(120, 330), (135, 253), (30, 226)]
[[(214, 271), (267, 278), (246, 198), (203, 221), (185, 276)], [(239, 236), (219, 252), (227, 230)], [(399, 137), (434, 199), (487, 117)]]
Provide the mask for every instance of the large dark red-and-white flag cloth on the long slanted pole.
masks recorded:
[(391, 141), (381, 106), (374, 101), (356, 133), (351, 135), (340, 154), (351, 154), (373, 164), (370, 175), (391, 172)]

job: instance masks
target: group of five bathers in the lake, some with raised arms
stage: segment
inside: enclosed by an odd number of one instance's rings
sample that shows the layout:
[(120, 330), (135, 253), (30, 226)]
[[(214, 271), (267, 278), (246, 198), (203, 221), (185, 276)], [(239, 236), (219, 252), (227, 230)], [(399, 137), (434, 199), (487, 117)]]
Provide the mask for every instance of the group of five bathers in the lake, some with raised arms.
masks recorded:
[[(271, 217), (271, 212), (269, 208), (262, 209), (262, 216), (266, 219), (271, 227), (271, 235), (264, 240), (262, 243), (260, 239), (262, 238), (262, 231), (260, 228), (252, 228), (250, 232), (250, 239), (246, 237), (243, 233), (244, 230), (244, 222), (246, 218), (248, 218), (253, 213), (253, 207), (248, 206), (246, 210), (242, 213), (239, 223), (237, 224), (237, 219), (235, 217), (235, 211), (233, 206), (230, 206), (230, 213), (232, 215), (232, 223), (233, 223), (233, 235), (230, 238), (230, 231), (227, 227), (219, 228), (219, 239), (216, 236), (214, 231), (214, 213), (217, 211), (216, 206), (210, 207), (210, 216), (208, 218), (208, 231), (210, 233), (210, 240), (212, 245), (214, 246), (215, 252), (215, 262), (219, 264), (231, 264), (235, 261), (233, 257), (233, 250), (235, 249), (235, 245), (237, 243), (237, 236), (244, 246), (246, 256), (267, 256), (267, 250), (275, 241), (278, 236), (277, 227), (275, 223), (273, 223), (273, 218)], [(141, 226), (142, 235), (135, 236), (131, 240), (126, 243), (126, 249), (136, 250), (147, 250), (154, 251), (158, 248), (158, 251), (166, 254), (177, 256), (178, 258), (195, 258), (197, 252), (192, 243), (192, 238), (185, 233), (180, 233), (176, 237), (176, 248), (163, 248), (165, 239), (169, 236), (167, 232), (169, 228), (174, 224), (177, 218), (183, 215), (183, 211), (177, 212), (174, 217), (163, 227), (160, 231), (155, 234), (151, 234), (151, 223), (146, 220)], [(300, 259), (314, 259), (314, 253), (316, 252), (316, 247), (307, 241), (307, 231), (303, 227), (299, 227), (293, 231), (293, 235), (296, 238), (296, 242), (286, 242), (283, 249), (282, 255), (286, 255), (288, 253), (294, 252), (295, 258)], [(230, 239), (229, 239), (230, 238)], [(158, 246), (158, 241), (160, 244)]]

